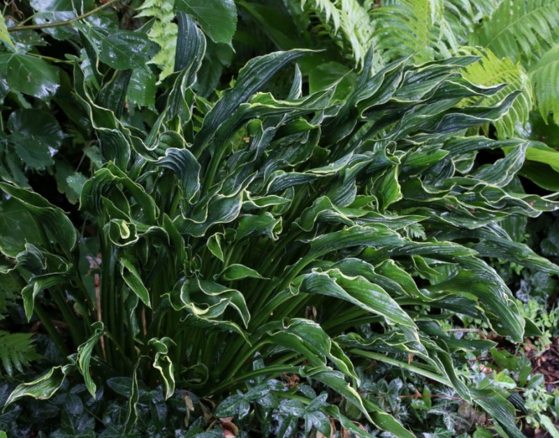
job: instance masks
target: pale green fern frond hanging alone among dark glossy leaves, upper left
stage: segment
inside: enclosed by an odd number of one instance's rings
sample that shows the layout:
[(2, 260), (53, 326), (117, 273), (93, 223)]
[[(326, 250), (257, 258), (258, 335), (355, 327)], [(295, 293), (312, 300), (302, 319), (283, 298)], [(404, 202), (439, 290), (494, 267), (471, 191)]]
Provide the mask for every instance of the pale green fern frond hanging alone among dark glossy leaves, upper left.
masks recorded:
[(160, 81), (173, 73), (175, 67), (178, 27), (173, 22), (175, 19), (173, 3), (169, 0), (147, 0), (138, 8), (140, 10), (138, 17), (155, 17), (155, 23), (147, 36), (159, 44), (159, 52), (150, 63), (161, 68)]

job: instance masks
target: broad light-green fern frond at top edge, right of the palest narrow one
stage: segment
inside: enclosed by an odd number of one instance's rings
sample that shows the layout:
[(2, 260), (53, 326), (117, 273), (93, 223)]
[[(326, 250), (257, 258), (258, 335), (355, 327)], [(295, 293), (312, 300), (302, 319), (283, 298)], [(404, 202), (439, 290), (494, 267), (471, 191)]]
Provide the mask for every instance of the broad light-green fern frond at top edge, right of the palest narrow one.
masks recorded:
[(375, 47), (388, 59), (414, 54), (415, 61), (430, 61), (458, 50), (442, 0), (402, 0), (372, 10), (372, 18)]

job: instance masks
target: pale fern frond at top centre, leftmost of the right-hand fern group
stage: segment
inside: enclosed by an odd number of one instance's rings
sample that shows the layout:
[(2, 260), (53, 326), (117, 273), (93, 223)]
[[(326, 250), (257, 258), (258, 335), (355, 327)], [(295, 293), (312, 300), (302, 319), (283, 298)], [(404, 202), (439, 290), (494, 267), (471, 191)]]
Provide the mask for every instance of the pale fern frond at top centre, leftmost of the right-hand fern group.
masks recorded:
[(373, 33), (366, 5), (358, 0), (300, 0), (300, 5), (316, 13), (328, 34), (341, 36), (340, 43), (349, 45), (356, 64), (363, 64)]

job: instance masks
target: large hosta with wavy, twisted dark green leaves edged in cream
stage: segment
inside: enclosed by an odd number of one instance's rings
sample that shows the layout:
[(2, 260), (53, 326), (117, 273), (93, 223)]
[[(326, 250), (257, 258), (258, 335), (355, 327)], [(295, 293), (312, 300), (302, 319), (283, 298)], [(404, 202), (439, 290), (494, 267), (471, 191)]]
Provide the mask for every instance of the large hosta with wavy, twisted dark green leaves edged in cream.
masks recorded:
[[(390, 365), (449, 386), (521, 437), (507, 394), (466, 385), (453, 366), (457, 351), (493, 343), (459, 340), (438, 322), (469, 316), (520, 342), (525, 321), (485, 258), (559, 272), (504, 226), (556, 208), (515, 180), (528, 142), (466, 136), (517, 93), (472, 105), (502, 89), (460, 75), (476, 57), (403, 59), (372, 74), (371, 52), (353, 89), (306, 93), (293, 63), (308, 52), (291, 50), (250, 60), (208, 101), (195, 92), (205, 36), (187, 13), (177, 23), (171, 86), (157, 117), (138, 105), (135, 119), (125, 98), (133, 68), (103, 66), (102, 32), (79, 29), (89, 68), (76, 60), (73, 87), (101, 153), (74, 186), (83, 224), (0, 183), (5, 218), (21, 217), (20, 233), (0, 236), (2, 277), (22, 284), (27, 318), (67, 355), (7, 404), (51, 397), (78, 374), (92, 397), (106, 379), (129, 377), (123, 433), (144, 382), (165, 397), (177, 385), (233, 394), (215, 414), (261, 415), (277, 423), (263, 426), (270, 434), (327, 435), (335, 418), (363, 436), (413, 436), (360, 394), (363, 372)], [(285, 68), (291, 88), (270, 93)], [(475, 160), (502, 147), (510, 152), (494, 163)]]

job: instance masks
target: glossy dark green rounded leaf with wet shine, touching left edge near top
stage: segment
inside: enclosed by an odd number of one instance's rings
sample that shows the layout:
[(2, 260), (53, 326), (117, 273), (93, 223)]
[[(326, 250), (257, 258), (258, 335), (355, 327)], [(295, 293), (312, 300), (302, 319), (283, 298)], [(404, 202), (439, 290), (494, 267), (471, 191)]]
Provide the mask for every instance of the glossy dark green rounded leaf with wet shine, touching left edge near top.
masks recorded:
[(6, 72), (12, 91), (48, 101), (59, 87), (58, 69), (41, 58), (19, 53), (0, 53), (0, 71)]

